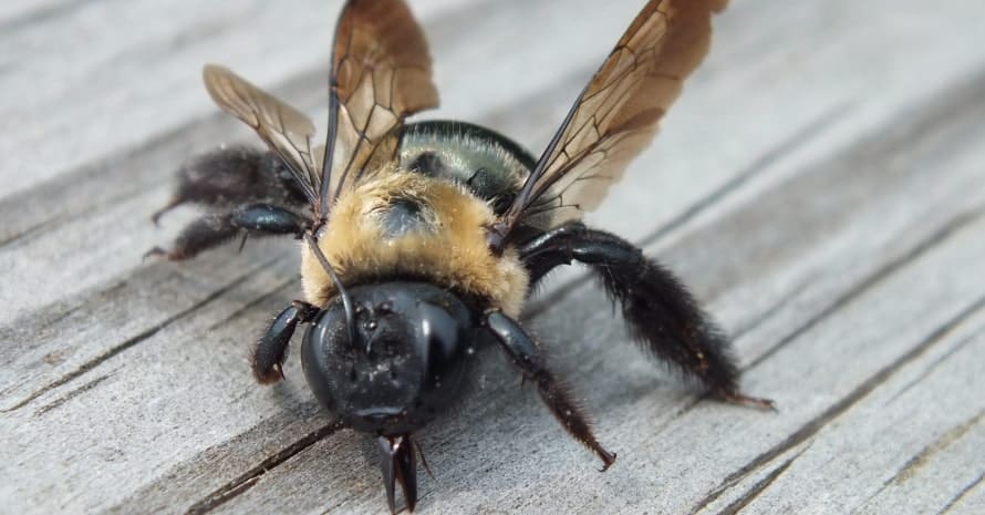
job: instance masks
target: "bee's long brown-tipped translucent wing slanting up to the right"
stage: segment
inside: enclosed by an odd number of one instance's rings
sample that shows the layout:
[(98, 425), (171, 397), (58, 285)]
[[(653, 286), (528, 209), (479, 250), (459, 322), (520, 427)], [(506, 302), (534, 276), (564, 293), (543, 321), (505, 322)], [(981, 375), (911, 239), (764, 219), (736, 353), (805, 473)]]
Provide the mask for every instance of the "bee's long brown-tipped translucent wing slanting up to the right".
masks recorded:
[(656, 133), (657, 122), (701, 63), (711, 14), (727, 0), (651, 0), (595, 72), (496, 230), (523, 218), (551, 225), (595, 208)]

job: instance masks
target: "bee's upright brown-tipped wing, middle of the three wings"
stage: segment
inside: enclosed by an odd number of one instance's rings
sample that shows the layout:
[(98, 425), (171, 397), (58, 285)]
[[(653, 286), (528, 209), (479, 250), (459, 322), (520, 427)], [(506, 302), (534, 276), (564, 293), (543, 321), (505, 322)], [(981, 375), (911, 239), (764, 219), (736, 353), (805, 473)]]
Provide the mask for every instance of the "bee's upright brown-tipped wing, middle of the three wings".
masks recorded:
[[(392, 161), (404, 117), (436, 107), (424, 32), (402, 0), (350, 0), (335, 30), (322, 210)], [(330, 193), (333, 192), (333, 193)]]

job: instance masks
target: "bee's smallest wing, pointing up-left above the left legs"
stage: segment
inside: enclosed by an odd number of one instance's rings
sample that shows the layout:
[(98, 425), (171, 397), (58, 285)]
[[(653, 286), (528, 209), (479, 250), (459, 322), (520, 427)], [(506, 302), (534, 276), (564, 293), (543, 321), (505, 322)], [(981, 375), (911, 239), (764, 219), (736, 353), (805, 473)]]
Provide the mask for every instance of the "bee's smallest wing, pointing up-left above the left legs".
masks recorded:
[(320, 168), (311, 147), (315, 132), (311, 120), (224, 66), (206, 65), (203, 78), (212, 100), (260, 135), (288, 166), (312, 205), (317, 205), (314, 185)]

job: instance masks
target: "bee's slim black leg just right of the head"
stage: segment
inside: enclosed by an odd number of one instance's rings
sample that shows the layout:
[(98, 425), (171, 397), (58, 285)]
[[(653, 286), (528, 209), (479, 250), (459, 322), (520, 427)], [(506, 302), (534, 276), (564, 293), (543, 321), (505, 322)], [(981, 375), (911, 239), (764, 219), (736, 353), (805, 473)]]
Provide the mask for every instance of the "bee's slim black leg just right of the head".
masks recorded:
[(516, 320), (499, 311), (487, 312), (483, 322), (514, 365), (520, 369), (523, 378), (537, 385), (540, 398), (543, 399), (554, 418), (561, 422), (564, 430), (599, 455), (599, 459), (602, 460), (603, 471), (609, 468), (615, 462), (615, 453), (602, 449), (602, 445), (595, 440), (588, 418), (582, 413), (581, 408), (571, 400), (566, 388), (548, 371), (537, 344), (523, 331), (523, 328)]

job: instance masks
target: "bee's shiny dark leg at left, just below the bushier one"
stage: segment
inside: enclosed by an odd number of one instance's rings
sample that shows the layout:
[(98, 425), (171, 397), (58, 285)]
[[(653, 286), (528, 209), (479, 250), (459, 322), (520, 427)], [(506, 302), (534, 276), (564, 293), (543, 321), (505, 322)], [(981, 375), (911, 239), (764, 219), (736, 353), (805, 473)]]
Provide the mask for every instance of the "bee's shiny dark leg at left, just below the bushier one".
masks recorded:
[(305, 224), (303, 218), (282, 207), (270, 204), (242, 206), (196, 219), (182, 230), (170, 250), (155, 247), (145, 257), (164, 256), (172, 261), (191, 259), (236, 236), (300, 235)]

